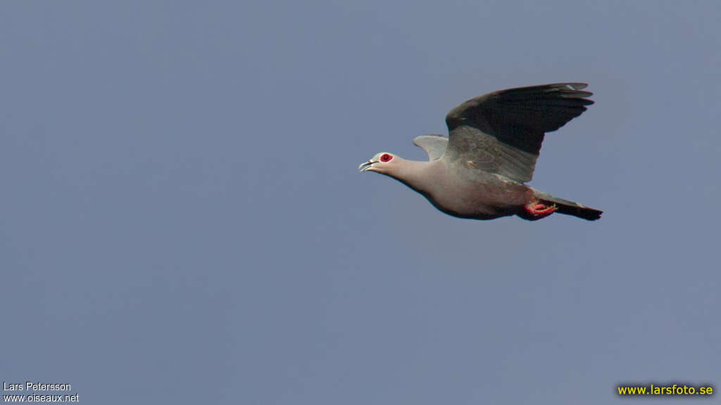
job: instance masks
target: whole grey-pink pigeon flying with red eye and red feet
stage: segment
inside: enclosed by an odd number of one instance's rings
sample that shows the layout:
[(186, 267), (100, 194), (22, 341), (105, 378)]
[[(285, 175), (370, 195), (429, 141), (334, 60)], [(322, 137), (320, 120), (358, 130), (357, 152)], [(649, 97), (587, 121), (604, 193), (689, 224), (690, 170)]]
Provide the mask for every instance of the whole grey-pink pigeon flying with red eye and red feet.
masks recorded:
[(533, 178), (544, 135), (581, 115), (593, 93), (585, 83), (517, 87), (484, 94), (446, 115), (448, 137), (420, 135), (413, 143), (428, 161), (376, 153), (358, 166), (402, 182), (458, 218), (491, 220), (517, 215), (537, 221), (553, 213), (588, 221), (603, 211), (541, 192)]

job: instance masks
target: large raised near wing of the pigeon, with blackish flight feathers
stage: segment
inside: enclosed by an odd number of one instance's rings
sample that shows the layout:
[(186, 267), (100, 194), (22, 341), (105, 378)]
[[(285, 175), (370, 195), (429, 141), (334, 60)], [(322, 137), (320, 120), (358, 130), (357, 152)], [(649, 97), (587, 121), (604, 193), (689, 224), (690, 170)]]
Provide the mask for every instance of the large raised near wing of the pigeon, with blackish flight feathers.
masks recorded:
[(446, 115), (443, 159), (463, 161), (518, 182), (533, 178), (544, 134), (581, 115), (593, 101), (585, 83), (500, 90), (469, 99)]

